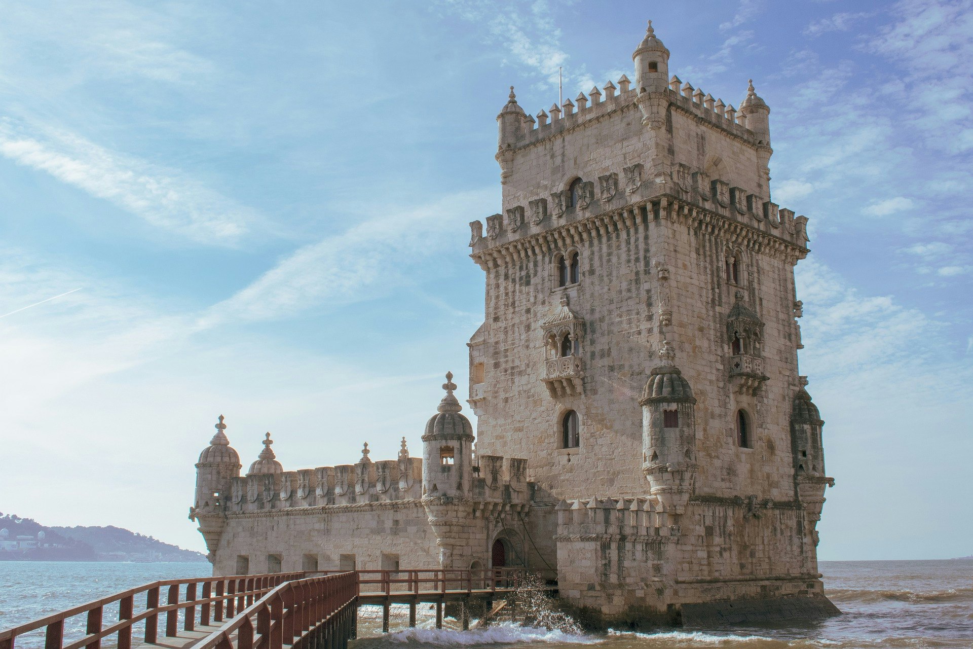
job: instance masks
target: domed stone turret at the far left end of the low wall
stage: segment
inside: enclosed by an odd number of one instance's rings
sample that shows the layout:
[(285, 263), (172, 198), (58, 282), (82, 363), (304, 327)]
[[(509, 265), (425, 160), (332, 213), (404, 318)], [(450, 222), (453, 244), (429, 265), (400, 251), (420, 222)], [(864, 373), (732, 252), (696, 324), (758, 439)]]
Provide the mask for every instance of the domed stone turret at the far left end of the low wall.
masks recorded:
[(230, 440), (223, 432), (227, 429), (223, 415), (220, 415), (215, 428), (216, 434), (209, 441), (209, 446), (199, 453), (196, 463), (196, 504), (189, 511), (190, 521), (199, 524), (210, 560), (226, 524), (226, 508), (233, 479), (239, 476), (242, 468), (239, 454), (230, 446)]

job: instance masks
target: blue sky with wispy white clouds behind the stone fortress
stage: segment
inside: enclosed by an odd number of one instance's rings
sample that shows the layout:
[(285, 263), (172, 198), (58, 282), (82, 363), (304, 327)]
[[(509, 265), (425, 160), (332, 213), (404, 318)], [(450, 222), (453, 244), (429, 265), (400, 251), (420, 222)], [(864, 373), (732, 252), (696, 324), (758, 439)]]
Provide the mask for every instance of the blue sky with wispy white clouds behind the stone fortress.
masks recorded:
[(217, 415), (245, 464), (267, 430), (287, 469), (419, 451), (482, 319), (507, 87), (631, 77), (652, 18), (683, 81), (754, 79), (811, 218), (820, 557), (973, 554), (971, 9), (0, 2), (0, 509), (201, 549)]

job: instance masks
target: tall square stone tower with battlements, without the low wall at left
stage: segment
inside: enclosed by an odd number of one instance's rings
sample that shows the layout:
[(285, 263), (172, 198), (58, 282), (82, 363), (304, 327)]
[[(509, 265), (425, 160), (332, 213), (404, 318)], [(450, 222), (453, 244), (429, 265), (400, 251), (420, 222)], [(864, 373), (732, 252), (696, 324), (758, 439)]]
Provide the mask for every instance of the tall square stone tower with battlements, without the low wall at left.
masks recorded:
[(605, 619), (833, 612), (814, 549), (832, 481), (798, 373), (808, 220), (771, 199), (770, 108), (752, 82), (738, 112), (669, 77), (651, 22), (632, 59), (633, 87), (536, 119), (512, 89), (497, 117), (502, 209), (471, 224), (478, 452), (529, 461), (560, 593)]

